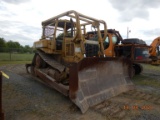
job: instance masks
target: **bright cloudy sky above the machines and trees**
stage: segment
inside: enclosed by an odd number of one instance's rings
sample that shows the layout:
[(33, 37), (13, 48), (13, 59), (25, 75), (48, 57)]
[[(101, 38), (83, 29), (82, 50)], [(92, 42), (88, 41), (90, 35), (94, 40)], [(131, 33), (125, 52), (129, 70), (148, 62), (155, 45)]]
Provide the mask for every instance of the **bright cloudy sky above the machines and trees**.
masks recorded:
[(160, 36), (159, 0), (0, 0), (0, 37), (32, 46), (41, 38), (41, 22), (75, 10), (104, 20), (122, 37), (139, 38), (148, 45)]

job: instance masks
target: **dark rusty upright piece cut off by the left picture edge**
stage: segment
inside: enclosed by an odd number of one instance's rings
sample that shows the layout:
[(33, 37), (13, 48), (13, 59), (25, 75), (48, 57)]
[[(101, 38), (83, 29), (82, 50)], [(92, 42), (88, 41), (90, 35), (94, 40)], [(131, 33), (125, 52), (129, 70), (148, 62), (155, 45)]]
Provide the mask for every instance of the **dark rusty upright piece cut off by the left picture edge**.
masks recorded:
[(4, 113), (2, 111), (2, 72), (0, 72), (0, 120), (4, 120)]

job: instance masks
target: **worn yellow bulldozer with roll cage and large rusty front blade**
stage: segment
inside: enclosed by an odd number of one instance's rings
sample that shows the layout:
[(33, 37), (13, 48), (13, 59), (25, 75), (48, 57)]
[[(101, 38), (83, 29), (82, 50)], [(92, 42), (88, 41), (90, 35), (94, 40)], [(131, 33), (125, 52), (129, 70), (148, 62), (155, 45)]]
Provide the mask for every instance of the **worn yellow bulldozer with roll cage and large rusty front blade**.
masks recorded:
[[(86, 39), (87, 31), (94, 31), (98, 39)], [(36, 52), (26, 70), (68, 96), (85, 113), (106, 99), (134, 89), (131, 61), (107, 57), (103, 46), (106, 36), (105, 21), (74, 10), (47, 19), (42, 22), (42, 36), (34, 42)]]

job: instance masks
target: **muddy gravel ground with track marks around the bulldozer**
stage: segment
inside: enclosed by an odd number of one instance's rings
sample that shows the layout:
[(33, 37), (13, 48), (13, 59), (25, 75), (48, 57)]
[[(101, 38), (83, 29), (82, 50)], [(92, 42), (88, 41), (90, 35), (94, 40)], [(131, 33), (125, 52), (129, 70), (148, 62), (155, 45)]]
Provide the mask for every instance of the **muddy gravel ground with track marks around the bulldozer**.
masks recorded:
[[(145, 65), (144, 68), (140, 80), (152, 79), (160, 84), (160, 68), (154, 70)], [(68, 97), (27, 74), (24, 65), (1, 66), (0, 70), (10, 76), (10, 79), (3, 78), (5, 120), (160, 120), (160, 87), (157, 86), (135, 82), (135, 90), (106, 100), (82, 114)]]

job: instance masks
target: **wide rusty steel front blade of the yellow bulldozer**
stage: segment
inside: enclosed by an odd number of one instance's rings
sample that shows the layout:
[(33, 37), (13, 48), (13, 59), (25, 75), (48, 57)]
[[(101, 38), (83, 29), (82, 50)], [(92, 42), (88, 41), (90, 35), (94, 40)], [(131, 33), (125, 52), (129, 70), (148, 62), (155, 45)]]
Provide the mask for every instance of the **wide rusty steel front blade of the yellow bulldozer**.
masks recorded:
[(93, 105), (134, 88), (127, 59), (85, 58), (70, 67), (69, 97), (85, 113)]

